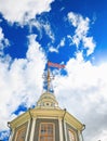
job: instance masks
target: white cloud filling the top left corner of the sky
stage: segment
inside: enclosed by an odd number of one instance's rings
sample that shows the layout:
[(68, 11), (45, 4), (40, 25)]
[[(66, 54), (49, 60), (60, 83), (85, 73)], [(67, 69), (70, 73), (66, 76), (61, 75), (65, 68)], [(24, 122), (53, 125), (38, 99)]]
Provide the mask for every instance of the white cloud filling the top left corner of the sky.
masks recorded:
[(0, 12), (11, 23), (24, 24), (36, 17), (37, 14), (49, 12), (53, 0), (0, 0)]

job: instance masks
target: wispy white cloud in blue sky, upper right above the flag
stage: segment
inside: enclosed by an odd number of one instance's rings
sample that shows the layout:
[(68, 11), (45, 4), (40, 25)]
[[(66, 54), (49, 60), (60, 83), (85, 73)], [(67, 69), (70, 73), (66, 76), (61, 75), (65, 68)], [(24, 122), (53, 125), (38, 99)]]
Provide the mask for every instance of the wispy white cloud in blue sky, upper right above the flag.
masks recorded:
[(93, 37), (89, 37), (88, 33), (90, 29), (90, 20), (88, 17), (83, 18), (82, 15), (76, 13), (68, 13), (68, 20), (71, 25), (76, 28), (75, 35), (72, 36), (72, 43), (79, 49), (79, 44), (83, 43), (83, 48), (88, 49), (88, 55), (92, 54), (95, 49), (95, 42)]

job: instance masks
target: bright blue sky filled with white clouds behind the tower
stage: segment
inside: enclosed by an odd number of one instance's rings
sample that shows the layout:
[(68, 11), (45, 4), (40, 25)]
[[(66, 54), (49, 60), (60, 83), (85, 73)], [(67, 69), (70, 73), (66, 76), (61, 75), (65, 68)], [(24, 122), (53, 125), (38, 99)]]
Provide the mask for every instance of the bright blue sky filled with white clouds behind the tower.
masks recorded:
[(0, 140), (8, 121), (34, 107), (48, 60), (62, 108), (85, 125), (84, 141), (107, 141), (107, 1), (0, 0)]

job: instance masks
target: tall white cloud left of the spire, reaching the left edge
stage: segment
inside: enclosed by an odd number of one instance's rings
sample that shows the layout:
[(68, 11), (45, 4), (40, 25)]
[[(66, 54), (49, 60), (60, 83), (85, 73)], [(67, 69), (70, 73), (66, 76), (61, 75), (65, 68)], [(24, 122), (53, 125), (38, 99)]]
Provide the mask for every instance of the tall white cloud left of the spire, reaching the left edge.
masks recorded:
[(28, 39), (26, 59), (15, 59), (11, 64), (0, 59), (0, 131), (8, 128), (6, 121), (16, 116), (13, 112), (21, 104), (29, 107), (42, 91), (45, 56), (36, 36)]

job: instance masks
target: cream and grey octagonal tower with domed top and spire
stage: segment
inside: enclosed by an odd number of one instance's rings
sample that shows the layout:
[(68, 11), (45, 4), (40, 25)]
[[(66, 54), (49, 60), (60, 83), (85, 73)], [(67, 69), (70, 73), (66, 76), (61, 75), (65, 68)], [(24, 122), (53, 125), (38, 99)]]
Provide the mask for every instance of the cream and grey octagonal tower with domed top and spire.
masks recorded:
[(50, 91), (52, 77), (48, 67), (46, 91), (42, 93), (35, 108), (9, 123), (12, 130), (10, 141), (83, 141), (84, 125), (66, 110)]

